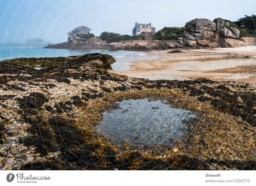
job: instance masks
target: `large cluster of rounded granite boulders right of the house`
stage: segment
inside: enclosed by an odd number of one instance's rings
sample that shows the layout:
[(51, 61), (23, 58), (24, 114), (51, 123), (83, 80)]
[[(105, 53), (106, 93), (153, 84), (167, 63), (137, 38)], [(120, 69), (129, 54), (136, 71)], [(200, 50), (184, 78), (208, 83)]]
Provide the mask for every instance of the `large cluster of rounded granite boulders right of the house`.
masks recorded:
[(210, 46), (210, 47), (242, 47), (246, 43), (239, 41), (240, 31), (230, 27), (227, 20), (216, 18), (193, 19), (189, 21), (187, 31), (183, 33), (178, 43), (183, 46)]

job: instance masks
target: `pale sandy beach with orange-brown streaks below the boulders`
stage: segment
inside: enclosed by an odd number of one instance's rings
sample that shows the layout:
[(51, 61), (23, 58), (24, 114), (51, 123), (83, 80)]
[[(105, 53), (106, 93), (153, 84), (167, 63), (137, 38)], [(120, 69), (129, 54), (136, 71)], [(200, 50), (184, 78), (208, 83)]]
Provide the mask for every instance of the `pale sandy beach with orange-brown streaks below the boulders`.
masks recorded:
[(110, 72), (149, 80), (205, 77), (214, 81), (255, 82), (256, 46), (213, 50), (180, 49), (180, 52), (173, 50), (177, 49), (149, 51), (148, 56), (159, 56), (159, 59), (131, 62), (129, 70)]

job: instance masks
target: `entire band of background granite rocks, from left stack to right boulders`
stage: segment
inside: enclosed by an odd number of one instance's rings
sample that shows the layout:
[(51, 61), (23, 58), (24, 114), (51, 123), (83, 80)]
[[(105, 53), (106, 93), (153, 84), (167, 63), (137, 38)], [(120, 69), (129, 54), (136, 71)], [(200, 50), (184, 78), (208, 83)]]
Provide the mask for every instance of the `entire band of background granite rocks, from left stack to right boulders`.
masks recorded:
[(216, 18), (192, 19), (186, 25), (186, 31), (182, 37), (173, 40), (135, 40), (130, 42), (108, 42), (98, 38), (91, 38), (91, 29), (85, 26), (74, 28), (68, 33), (68, 41), (58, 44), (50, 44), (44, 48), (57, 49), (103, 49), (103, 50), (159, 50), (183, 47), (208, 47), (208, 48), (234, 48), (248, 46), (241, 38), (240, 31), (232, 27), (231, 21)]

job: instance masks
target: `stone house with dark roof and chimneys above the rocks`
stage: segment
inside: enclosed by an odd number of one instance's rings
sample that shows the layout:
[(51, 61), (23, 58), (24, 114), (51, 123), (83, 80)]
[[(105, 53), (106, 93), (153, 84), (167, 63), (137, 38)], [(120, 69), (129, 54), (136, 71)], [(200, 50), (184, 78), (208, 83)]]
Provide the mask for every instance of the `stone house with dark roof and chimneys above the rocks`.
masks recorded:
[(145, 36), (153, 36), (155, 35), (156, 28), (152, 27), (151, 23), (142, 24), (135, 23), (135, 27), (132, 29), (132, 35), (145, 35)]

